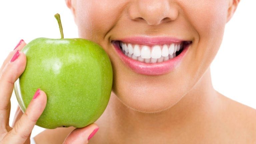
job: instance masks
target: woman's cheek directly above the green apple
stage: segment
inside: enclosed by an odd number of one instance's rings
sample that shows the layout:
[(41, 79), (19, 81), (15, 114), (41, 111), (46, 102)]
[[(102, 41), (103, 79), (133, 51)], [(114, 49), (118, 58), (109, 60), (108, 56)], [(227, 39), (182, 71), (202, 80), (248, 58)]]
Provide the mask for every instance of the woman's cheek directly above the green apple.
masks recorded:
[(122, 1), (107, 0), (102, 1), (77, 1), (77, 26), (79, 37), (92, 40), (99, 44), (106, 42), (107, 32), (118, 20), (118, 15), (122, 11), (120, 4)]

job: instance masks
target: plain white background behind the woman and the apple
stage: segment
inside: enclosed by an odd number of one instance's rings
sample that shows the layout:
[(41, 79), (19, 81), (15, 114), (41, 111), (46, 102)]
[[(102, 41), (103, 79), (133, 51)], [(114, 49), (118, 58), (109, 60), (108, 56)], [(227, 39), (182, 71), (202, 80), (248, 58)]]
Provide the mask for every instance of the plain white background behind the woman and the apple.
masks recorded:
[[(212, 65), (214, 88), (225, 96), (256, 108), (256, 1), (242, 0), (225, 29), (220, 50)], [(64, 0), (3, 0), (0, 3), (0, 63), (20, 39), (59, 38), (54, 18), (61, 14), (65, 38), (78, 37)], [(13, 93), (10, 124), (17, 100)], [(35, 126), (32, 137), (44, 130)]]

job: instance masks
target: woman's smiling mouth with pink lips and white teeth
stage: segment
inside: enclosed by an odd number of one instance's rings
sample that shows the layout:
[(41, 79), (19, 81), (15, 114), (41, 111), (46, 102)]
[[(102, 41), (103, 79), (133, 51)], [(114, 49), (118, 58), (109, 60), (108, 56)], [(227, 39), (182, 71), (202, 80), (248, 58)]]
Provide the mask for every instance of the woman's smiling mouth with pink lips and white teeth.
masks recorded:
[(130, 69), (143, 75), (173, 71), (186, 55), (192, 41), (171, 37), (128, 37), (111, 41), (116, 54)]

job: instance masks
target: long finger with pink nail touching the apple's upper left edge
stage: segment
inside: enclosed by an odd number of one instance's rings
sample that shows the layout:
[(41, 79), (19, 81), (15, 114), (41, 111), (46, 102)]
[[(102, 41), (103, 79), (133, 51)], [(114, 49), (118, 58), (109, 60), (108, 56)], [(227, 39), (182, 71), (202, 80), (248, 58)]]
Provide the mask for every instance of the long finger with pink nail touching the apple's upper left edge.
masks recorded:
[(14, 82), (23, 73), (26, 67), (26, 55), (16, 51), (0, 72), (0, 127), (9, 124), (9, 102)]

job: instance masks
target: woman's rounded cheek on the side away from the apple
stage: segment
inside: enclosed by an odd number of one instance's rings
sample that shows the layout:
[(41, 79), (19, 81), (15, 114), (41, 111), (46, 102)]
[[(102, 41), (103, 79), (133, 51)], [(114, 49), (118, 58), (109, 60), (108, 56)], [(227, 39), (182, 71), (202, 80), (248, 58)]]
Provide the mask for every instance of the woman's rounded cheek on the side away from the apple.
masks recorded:
[(199, 33), (200, 38), (222, 34), (227, 17), (226, 0), (199, 0), (184, 2), (184, 15)]

